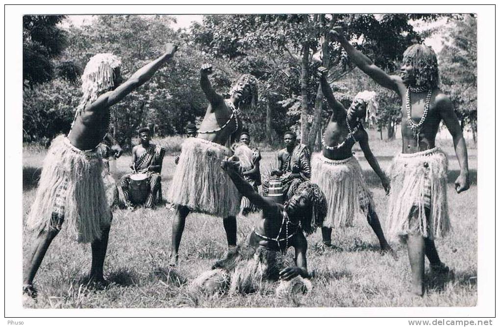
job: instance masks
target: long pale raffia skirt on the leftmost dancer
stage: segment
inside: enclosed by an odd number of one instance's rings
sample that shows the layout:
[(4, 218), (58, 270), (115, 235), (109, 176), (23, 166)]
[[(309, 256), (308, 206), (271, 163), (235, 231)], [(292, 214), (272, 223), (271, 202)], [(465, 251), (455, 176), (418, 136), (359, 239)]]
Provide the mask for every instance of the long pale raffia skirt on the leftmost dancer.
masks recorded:
[(96, 151), (80, 150), (63, 135), (52, 140), (43, 160), (38, 188), (26, 226), (36, 230), (59, 229), (52, 213), (64, 217), (63, 225), (86, 243), (101, 236), (111, 212), (102, 182), (102, 160)]

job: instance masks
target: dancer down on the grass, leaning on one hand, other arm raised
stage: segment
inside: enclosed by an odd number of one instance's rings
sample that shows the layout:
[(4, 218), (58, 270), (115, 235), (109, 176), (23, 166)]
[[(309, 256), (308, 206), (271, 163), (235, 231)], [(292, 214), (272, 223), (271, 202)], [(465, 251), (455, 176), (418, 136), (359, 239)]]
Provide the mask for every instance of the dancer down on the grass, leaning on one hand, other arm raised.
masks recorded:
[[(323, 192), (316, 184), (304, 181), (283, 206), (259, 195), (239, 175), (233, 162), (224, 160), (221, 166), (241, 194), (262, 209), (262, 215), (246, 241), (231, 249), (212, 270), (198, 276), (193, 286), (205, 292), (229, 288), (230, 293), (247, 293), (280, 280), (278, 295), (310, 289), (310, 281), (303, 279), (308, 277), (304, 232), (310, 234), (322, 224), (327, 209)], [(294, 262), (285, 259), (290, 246), (295, 250)]]

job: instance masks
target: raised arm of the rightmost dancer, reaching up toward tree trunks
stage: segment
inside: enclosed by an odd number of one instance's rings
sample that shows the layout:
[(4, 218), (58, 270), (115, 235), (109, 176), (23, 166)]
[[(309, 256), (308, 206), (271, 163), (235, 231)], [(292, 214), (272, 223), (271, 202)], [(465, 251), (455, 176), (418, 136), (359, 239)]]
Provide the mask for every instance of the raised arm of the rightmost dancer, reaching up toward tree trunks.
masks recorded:
[(399, 76), (387, 74), (385, 71), (375, 66), (370, 58), (361, 53), (361, 51), (356, 50), (343, 35), (341, 27), (333, 28), (330, 33), (333, 38), (342, 45), (345, 52), (349, 55), (349, 58), (359, 67), (359, 69), (381, 86), (389, 88), (399, 94), (399, 89), (397, 87), (397, 82), (401, 81)]

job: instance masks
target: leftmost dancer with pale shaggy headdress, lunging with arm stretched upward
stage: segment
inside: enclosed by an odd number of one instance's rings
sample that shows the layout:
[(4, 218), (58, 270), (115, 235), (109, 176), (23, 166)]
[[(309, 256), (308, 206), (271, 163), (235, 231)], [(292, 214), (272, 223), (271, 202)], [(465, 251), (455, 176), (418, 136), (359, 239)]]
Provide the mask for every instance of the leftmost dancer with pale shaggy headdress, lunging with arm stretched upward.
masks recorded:
[(176, 49), (176, 45), (167, 44), (163, 55), (137, 70), (121, 85), (120, 60), (116, 56), (99, 53), (88, 61), (81, 76), (83, 96), (71, 129), (67, 136), (52, 140), (27, 217), (27, 226), (39, 233), (24, 270), (23, 293), (36, 296), (33, 278), (63, 221), (78, 242), (92, 243), (90, 280), (105, 282), (102, 267), (111, 210), (106, 201), (102, 160), (96, 146), (109, 126), (109, 107), (151, 78)]

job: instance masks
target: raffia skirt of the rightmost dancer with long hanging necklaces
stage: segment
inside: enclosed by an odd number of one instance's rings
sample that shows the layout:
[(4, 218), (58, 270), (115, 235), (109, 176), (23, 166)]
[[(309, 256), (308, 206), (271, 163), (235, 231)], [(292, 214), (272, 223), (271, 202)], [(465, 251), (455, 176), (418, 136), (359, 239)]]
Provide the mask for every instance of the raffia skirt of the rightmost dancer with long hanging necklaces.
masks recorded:
[(447, 167), (446, 155), (437, 147), (394, 157), (389, 169), (387, 225), (390, 238), (420, 234), (434, 239), (449, 231)]

